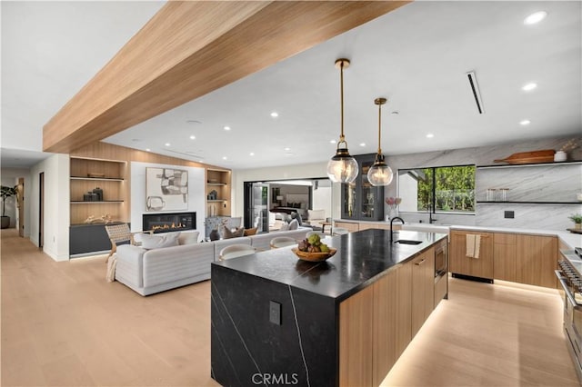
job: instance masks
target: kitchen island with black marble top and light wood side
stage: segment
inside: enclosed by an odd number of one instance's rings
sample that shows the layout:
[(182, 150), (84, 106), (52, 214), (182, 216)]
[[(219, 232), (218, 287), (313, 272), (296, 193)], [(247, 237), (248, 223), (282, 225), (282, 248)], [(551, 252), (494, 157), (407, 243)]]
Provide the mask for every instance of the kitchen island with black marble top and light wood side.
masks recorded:
[(322, 263), (281, 248), (212, 264), (212, 377), (222, 385), (377, 385), (446, 296), (447, 234), (370, 229), (327, 237)]

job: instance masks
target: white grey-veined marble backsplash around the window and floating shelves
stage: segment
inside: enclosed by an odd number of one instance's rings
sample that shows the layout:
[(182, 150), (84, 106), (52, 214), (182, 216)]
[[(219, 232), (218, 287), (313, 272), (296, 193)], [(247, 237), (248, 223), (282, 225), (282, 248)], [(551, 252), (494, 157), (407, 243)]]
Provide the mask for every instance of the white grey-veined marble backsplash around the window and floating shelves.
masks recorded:
[[(559, 150), (572, 136), (525, 140), (518, 144), (500, 144), (477, 148), (454, 149), (421, 154), (401, 154), (386, 157), (386, 162), (397, 176), (397, 170), (447, 165), (493, 165), (518, 152), (539, 149)], [(582, 137), (578, 137), (582, 144)], [(582, 160), (582, 148), (570, 151), (568, 161)], [(499, 164), (502, 165), (502, 164)], [(396, 177), (395, 176), (395, 177)], [(385, 196), (398, 196), (396, 184), (385, 188)], [(582, 164), (523, 166), (510, 168), (479, 168), (476, 174), (477, 201), (486, 200), (487, 188), (508, 188), (507, 201), (521, 202), (577, 202), (582, 193)], [(513, 211), (514, 219), (504, 217)], [(582, 213), (577, 204), (477, 203), (474, 215), (434, 215), (436, 223), (479, 226), (516, 227), (542, 230), (565, 230), (573, 227), (567, 217)], [(428, 222), (427, 213), (401, 213), (407, 223)]]

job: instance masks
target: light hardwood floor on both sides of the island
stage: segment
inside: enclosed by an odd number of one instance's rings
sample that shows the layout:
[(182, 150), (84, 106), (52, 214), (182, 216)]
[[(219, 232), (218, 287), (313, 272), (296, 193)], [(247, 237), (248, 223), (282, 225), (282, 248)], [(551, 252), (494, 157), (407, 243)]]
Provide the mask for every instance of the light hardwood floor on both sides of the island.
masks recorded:
[[(216, 386), (210, 283), (142, 297), (2, 230), (2, 386)], [(382, 385), (574, 386), (555, 291), (450, 281)]]

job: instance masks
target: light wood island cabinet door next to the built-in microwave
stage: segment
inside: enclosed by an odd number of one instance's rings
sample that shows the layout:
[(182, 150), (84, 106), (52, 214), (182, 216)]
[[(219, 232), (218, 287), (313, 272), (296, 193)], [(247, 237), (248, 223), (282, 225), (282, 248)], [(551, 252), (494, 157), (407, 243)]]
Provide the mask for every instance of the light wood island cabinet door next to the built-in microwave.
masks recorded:
[(412, 260), (412, 336), (420, 330), (435, 306), (435, 248)]

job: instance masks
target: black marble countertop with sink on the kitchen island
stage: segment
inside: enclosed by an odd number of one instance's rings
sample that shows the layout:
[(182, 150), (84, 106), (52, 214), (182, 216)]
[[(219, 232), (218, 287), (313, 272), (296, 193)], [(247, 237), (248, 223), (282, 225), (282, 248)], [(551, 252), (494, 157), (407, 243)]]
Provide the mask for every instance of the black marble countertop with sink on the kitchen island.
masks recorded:
[(394, 241), (422, 241), (416, 245), (390, 245), (389, 238), (390, 231), (381, 229), (328, 236), (323, 241), (337, 252), (321, 263), (301, 261), (291, 247), (284, 247), (212, 264), (332, 297), (339, 302), (374, 283), (396, 264), (408, 261), (447, 238), (447, 233), (395, 231)]

